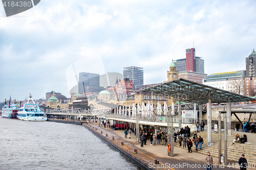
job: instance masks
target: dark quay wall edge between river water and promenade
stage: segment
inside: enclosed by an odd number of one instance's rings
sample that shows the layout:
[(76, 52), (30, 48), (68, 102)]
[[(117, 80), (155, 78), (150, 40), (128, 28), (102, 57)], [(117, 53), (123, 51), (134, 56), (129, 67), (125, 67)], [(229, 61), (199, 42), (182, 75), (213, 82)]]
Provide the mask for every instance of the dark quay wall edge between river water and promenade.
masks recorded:
[(103, 136), (102, 134), (94, 131), (87, 125), (83, 125), (85, 128), (87, 128), (89, 131), (91, 131), (93, 134), (95, 134), (98, 138), (100, 138), (103, 142), (107, 143), (112, 149), (120, 152), (123, 157), (130, 160), (132, 163), (136, 164), (141, 169), (156, 169), (156, 168), (150, 168), (148, 167), (148, 163), (140, 159), (139, 157), (134, 156), (129, 151), (121, 148), (118, 144), (113, 142), (111, 139)]

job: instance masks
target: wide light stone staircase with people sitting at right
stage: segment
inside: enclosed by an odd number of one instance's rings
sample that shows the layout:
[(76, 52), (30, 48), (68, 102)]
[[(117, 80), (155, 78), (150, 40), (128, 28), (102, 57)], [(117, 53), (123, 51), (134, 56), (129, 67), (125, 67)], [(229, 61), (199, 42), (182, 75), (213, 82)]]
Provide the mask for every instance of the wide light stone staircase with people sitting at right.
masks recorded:
[[(212, 132), (212, 142), (214, 142), (214, 145), (211, 145), (211, 147), (207, 146), (207, 131), (202, 132), (199, 135), (201, 135), (201, 137), (204, 139), (204, 144), (202, 146), (202, 150), (198, 149), (198, 152), (207, 155), (207, 152), (209, 151), (212, 156), (219, 158), (218, 133)], [(221, 139), (222, 154), (224, 154), (224, 133), (221, 134)], [(244, 154), (248, 163), (256, 165), (256, 146), (236, 142), (232, 144), (233, 140), (234, 136), (227, 136), (227, 159), (233, 162), (238, 162), (239, 158), (241, 158), (242, 154)], [(196, 151), (195, 144), (193, 144), (193, 150), (194, 152)]]

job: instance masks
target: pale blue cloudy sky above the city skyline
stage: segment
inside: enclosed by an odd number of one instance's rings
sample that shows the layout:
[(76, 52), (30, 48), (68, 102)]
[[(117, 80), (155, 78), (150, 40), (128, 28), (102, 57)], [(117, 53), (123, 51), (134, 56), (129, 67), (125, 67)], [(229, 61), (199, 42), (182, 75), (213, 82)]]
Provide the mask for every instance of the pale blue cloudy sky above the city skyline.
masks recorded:
[(144, 84), (161, 83), (193, 43), (205, 74), (245, 70), (256, 47), (255, 9), (253, 0), (41, 0), (6, 17), (0, 4), (0, 102), (51, 91), (70, 98), (79, 72), (129, 66), (143, 68)]

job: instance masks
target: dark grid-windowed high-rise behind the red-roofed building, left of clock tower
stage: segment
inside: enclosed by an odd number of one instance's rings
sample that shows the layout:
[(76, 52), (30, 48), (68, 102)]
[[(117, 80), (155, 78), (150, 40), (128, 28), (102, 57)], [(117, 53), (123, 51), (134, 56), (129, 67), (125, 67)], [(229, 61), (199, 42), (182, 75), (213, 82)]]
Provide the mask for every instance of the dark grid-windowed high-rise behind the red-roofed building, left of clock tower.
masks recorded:
[(143, 86), (143, 69), (140, 67), (124, 67), (123, 78), (128, 78), (133, 81), (135, 89), (139, 89)]

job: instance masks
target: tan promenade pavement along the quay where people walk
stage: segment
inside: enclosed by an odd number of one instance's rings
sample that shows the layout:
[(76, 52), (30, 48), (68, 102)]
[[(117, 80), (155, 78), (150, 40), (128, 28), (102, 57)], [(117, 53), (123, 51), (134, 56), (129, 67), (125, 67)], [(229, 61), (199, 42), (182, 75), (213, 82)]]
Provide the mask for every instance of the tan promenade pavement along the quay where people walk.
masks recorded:
[[(110, 138), (114, 137), (115, 142), (121, 143), (124, 150), (132, 153), (134, 149), (138, 150), (136, 157), (139, 157), (141, 160), (148, 163), (149, 167), (152, 169), (206, 169), (205, 167), (205, 155), (197, 152), (188, 153), (187, 148), (183, 149), (178, 145), (174, 145), (174, 157), (167, 156), (167, 147), (164, 145), (150, 145), (150, 140), (147, 140), (146, 145), (143, 148), (140, 147), (140, 143), (136, 142), (136, 136), (134, 133), (131, 134), (131, 138), (124, 138), (124, 130), (112, 131), (111, 128), (104, 128), (104, 126), (94, 125), (90, 123), (92, 128), (97, 128), (97, 131), (102, 131), (102, 135), (108, 134)], [(156, 141), (157, 142), (157, 141)], [(193, 145), (195, 147), (195, 145)], [(159, 160), (159, 165), (154, 164), (155, 159)], [(240, 169), (237, 162), (228, 161), (229, 166), (224, 166), (219, 164), (219, 159), (213, 157), (214, 169)], [(256, 169), (247, 168), (247, 169)]]

